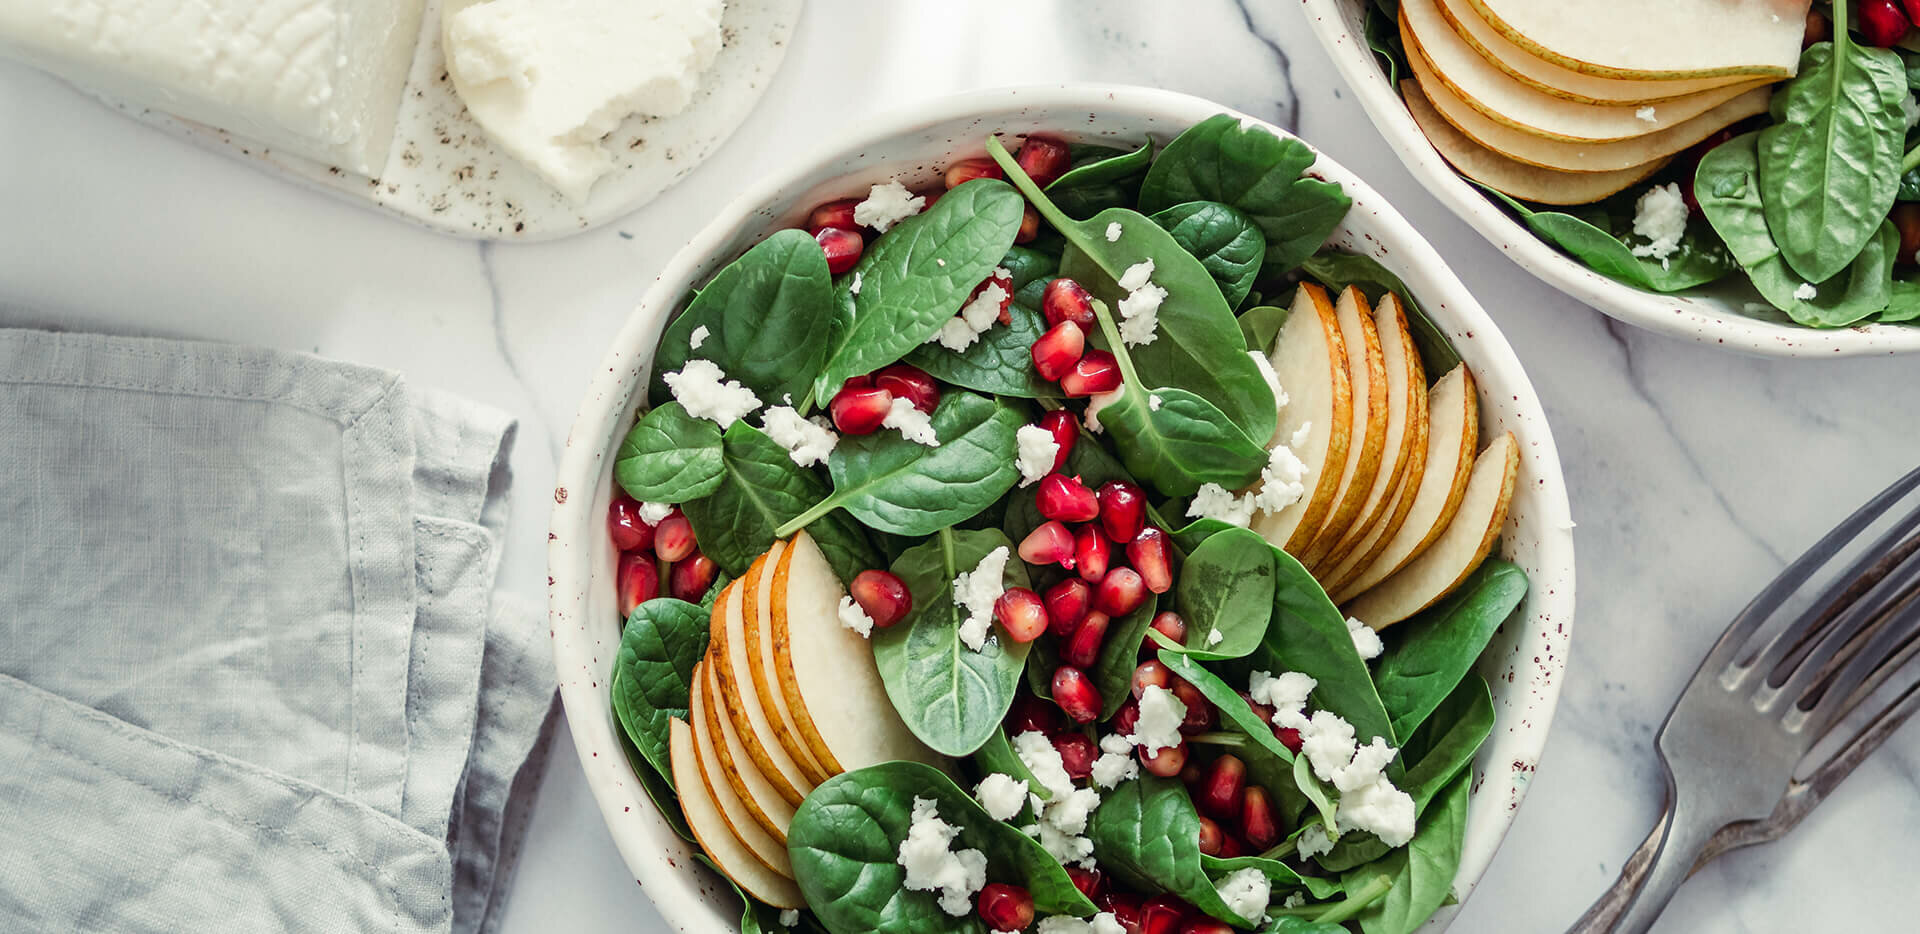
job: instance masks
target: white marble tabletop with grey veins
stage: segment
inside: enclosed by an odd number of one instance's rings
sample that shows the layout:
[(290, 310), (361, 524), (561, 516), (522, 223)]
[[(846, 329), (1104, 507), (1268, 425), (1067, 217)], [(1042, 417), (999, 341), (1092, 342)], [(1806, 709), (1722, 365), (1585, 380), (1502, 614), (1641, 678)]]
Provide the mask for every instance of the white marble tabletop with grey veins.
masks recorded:
[[(1730, 357), (1549, 292), (1407, 177), (1294, 4), (1248, 6), (810, 0), (780, 81), (712, 161), (605, 231), (540, 246), (405, 227), (0, 63), (0, 325), (309, 350), (511, 409), (522, 434), (505, 586), (540, 600), (553, 459), (601, 342), (739, 179), (862, 113), (991, 85), (1156, 85), (1275, 117), (1434, 240), (1553, 419), (1580, 521), (1572, 671), (1532, 796), (1455, 930), (1563, 930), (1651, 823), (1653, 730), (1724, 621), (1920, 463), (1920, 359)], [(1701, 873), (1657, 930), (1912, 930), (1914, 867), (1908, 728), (1791, 838)], [(564, 736), (505, 930), (662, 930)]]

